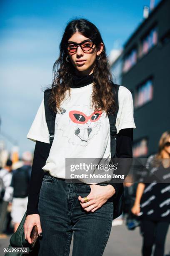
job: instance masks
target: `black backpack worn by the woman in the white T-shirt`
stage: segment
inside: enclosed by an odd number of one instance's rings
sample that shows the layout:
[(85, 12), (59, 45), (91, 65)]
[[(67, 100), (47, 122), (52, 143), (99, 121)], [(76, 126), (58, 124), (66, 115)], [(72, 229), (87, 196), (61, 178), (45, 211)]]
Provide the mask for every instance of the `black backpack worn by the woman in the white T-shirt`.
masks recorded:
[[(55, 134), (55, 116), (56, 113), (50, 110), (48, 102), (50, 98), (52, 89), (47, 89), (44, 92), (44, 106), (45, 106), (45, 120), (47, 122), (48, 132), (49, 132), (49, 138), (50, 138), (50, 144), (52, 145), (54, 134)], [(111, 158), (116, 157), (116, 133), (117, 129), (115, 126), (116, 123), (116, 117), (117, 112), (119, 109), (118, 104), (118, 91), (119, 91), (119, 85), (112, 83), (112, 92), (115, 95), (115, 105), (116, 105), (116, 111), (114, 115), (108, 115), (109, 123), (110, 123), (110, 151), (111, 151)], [(124, 199), (124, 187), (123, 184), (120, 184), (120, 188), (118, 190), (118, 193), (116, 197), (112, 197), (113, 201), (113, 219), (119, 217), (122, 214), (123, 210), (123, 199)]]

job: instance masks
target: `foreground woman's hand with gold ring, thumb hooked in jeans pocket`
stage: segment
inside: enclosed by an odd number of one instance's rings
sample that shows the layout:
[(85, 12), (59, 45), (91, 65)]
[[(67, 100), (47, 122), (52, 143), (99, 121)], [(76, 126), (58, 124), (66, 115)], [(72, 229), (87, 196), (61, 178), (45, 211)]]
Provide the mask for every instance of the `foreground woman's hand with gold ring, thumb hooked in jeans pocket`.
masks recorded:
[(102, 205), (104, 205), (104, 203), (115, 194), (115, 189), (110, 184), (106, 186), (92, 184), (90, 185), (90, 188), (91, 192), (89, 195), (87, 195), (87, 198), (89, 199), (88, 202), (84, 202), (83, 197), (81, 197), (80, 195), (78, 197), (80, 205), (87, 212), (94, 212)]

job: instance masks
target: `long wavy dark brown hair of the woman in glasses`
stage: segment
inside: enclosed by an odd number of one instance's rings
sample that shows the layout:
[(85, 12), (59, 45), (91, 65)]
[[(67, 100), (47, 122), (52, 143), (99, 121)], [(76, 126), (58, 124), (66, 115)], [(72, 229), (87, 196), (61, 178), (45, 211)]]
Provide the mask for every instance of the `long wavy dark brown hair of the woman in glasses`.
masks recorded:
[[(101, 42), (103, 43), (99, 30), (89, 20), (83, 18), (73, 19), (67, 24), (60, 42), (60, 56), (55, 61), (52, 69), (54, 79), (52, 81), (49, 106), (55, 113), (57, 109), (60, 110), (60, 104), (65, 98), (66, 90), (68, 90), (70, 96), (72, 74), (75, 73), (75, 67), (73, 67), (70, 61), (66, 61), (66, 45), (70, 37), (76, 32), (93, 40), (96, 47)], [(100, 54), (100, 59), (95, 60), (93, 77), (92, 105), (95, 111), (104, 110), (107, 114), (113, 114), (115, 112), (115, 100), (112, 93), (113, 82), (105, 45)]]

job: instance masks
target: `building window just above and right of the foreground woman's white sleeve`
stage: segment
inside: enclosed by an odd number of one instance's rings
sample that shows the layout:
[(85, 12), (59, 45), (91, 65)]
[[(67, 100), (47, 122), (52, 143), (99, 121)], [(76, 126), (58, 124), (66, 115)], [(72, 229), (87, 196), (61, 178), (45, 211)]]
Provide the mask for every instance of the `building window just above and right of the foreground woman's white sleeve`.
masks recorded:
[(153, 99), (153, 80), (148, 79), (136, 88), (134, 106), (138, 108)]

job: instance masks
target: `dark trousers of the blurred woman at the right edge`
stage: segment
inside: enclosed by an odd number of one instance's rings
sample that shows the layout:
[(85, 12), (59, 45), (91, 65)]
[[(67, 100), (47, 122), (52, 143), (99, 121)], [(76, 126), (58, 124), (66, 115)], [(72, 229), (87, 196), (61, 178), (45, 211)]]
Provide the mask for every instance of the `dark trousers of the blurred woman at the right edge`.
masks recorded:
[(150, 256), (155, 244), (154, 256), (164, 255), (165, 239), (168, 232), (169, 223), (163, 221), (141, 221), (141, 231), (143, 233), (142, 255)]

